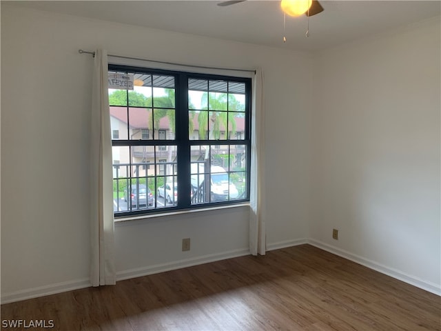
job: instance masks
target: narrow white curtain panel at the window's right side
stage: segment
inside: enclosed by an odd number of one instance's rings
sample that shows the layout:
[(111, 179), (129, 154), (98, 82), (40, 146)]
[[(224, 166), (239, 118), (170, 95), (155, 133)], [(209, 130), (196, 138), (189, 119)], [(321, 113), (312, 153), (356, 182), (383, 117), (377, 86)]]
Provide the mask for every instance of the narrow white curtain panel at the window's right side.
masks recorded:
[(263, 72), (256, 70), (253, 79), (252, 148), (249, 213), (249, 251), (265, 255), (265, 102), (263, 99)]

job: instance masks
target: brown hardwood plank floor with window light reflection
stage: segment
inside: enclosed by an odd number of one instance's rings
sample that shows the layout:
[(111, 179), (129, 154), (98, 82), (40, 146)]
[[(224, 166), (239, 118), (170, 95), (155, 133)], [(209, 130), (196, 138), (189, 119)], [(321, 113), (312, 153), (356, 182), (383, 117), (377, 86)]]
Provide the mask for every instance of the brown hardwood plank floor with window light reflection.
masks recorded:
[(298, 245), (1, 306), (2, 328), (17, 319), (54, 330), (441, 330), (441, 297)]

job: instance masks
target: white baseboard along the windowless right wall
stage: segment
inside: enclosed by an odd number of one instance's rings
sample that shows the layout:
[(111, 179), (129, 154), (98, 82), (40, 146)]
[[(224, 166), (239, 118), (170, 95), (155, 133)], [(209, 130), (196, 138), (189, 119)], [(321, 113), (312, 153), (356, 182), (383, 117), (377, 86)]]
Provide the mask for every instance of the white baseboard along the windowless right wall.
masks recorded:
[(360, 257), (357, 254), (352, 254), (351, 252), (347, 252), (346, 250), (342, 250), (316, 239), (309, 239), (308, 243), (322, 250), (326, 250), (327, 252), (330, 252), (332, 254), (336, 254), (339, 257), (344, 257), (345, 259), (348, 259), (350, 261), (365, 265), (365, 267), (367, 268), (376, 270), (378, 272), (381, 272), (382, 274), (387, 274), (388, 276), (398, 279), (400, 281), (404, 281), (404, 283), (409, 283), (413, 286), (416, 286), (417, 288), (421, 288), (422, 290), (426, 290), (428, 292), (441, 296), (441, 288), (438, 284), (424, 281), (423, 279), (420, 279), (418, 277), (411, 276), (394, 268), (389, 268), (386, 265), (382, 265), (375, 261), (365, 259), (364, 257)]

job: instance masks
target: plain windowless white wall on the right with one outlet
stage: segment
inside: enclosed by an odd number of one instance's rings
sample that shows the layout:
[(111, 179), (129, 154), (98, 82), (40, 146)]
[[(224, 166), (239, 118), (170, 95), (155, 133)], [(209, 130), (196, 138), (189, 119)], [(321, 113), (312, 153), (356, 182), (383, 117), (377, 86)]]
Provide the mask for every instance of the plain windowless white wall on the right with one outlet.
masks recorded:
[(440, 59), (439, 18), (318, 54), (310, 236), (441, 294)]

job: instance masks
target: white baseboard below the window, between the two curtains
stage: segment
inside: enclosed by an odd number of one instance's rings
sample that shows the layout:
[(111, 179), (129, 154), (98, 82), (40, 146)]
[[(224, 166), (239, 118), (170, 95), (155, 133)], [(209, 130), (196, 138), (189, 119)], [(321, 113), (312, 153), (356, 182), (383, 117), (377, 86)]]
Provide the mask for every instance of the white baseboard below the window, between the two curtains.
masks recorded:
[(159, 272), (192, 267), (194, 265), (199, 265), (209, 262), (232, 259), (233, 257), (243, 257), (245, 255), (249, 255), (248, 248), (244, 248), (241, 250), (230, 250), (228, 252), (223, 252), (218, 254), (208, 254), (208, 255), (203, 255), (202, 257), (194, 257), (190, 259), (172, 261), (170, 263), (150, 265), (148, 267), (143, 267), (143, 268), (123, 270), (116, 272), (116, 281), (123, 281), (124, 279), (147, 276), (148, 274), (157, 274)]

